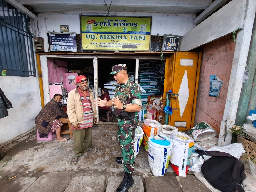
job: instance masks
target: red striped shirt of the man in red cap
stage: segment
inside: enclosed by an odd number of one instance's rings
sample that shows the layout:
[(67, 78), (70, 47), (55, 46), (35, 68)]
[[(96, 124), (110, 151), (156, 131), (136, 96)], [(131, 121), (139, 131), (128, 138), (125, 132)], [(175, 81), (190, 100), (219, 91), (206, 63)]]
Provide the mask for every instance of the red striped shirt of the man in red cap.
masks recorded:
[[(79, 123), (79, 129), (84, 129), (93, 126), (93, 115), (92, 115), (92, 102), (90, 101), (90, 95), (87, 91), (86, 97), (84, 93), (77, 87), (77, 90), (80, 95), (80, 100), (82, 102), (83, 114), (84, 114), (84, 123)], [(76, 130), (73, 126), (71, 129)]]

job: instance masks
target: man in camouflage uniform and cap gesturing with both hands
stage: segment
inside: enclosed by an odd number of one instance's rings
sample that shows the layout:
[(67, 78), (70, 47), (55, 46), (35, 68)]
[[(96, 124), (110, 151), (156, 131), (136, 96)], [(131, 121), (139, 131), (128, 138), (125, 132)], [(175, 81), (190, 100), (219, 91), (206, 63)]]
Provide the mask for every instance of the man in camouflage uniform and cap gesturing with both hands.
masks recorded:
[[(122, 157), (117, 157), (116, 162), (124, 164), (124, 179), (116, 192), (127, 192), (134, 183), (132, 172), (134, 171), (134, 136), (135, 127), (138, 126), (138, 112), (141, 110), (141, 90), (137, 84), (131, 81), (127, 75), (125, 64), (115, 65), (112, 72), (116, 83), (115, 96), (112, 100), (95, 101), (96, 106), (114, 106), (114, 112), (118, 123), (118, 141), (121, 146)], [(133, 128), (133, 131), (132, 131)], [(133, 132), (133, 134), (132, 134)]]

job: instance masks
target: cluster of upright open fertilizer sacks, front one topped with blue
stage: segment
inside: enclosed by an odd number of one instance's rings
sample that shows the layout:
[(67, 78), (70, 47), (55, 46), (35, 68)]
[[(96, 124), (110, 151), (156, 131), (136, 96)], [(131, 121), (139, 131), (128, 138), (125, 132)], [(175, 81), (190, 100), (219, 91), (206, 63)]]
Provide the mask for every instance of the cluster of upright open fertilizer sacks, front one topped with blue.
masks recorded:
[(164, 175), (170, 162), (176, 174), (185, 177), (194, 146), (193, 138), (178, 132), (176, 127), (162, 125), (151, 119), (144, 120), (142, 129), (143, 145), (148, 152), (148, 163), (153, 175)]

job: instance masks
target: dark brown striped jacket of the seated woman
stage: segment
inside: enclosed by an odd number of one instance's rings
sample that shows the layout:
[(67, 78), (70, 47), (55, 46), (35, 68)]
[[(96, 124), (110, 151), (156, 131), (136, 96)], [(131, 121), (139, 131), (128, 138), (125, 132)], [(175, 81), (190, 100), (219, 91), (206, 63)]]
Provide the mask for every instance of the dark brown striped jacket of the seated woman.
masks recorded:
[(40, 134), (48, 134), (52, 122), (57, 116), (68, 118), (68, 115), (60, 108), (56, 101), (50, 101), (35, 118), (36, 128)]

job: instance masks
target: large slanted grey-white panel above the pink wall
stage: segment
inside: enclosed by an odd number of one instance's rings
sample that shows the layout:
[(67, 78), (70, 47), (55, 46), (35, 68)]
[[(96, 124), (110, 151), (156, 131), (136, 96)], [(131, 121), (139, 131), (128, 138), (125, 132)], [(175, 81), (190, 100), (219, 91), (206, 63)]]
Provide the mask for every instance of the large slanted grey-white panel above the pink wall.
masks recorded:
[[(181, 40), (180, 51), (190, 51), (243, 28), (247, 0), (233, 0), (201, 22)], [(253, 25), (253, 21), (252, 21)]]

